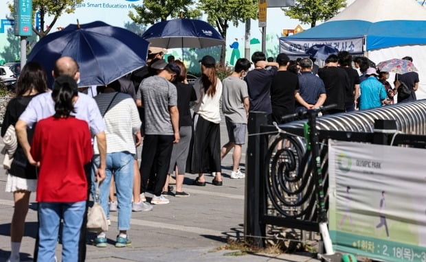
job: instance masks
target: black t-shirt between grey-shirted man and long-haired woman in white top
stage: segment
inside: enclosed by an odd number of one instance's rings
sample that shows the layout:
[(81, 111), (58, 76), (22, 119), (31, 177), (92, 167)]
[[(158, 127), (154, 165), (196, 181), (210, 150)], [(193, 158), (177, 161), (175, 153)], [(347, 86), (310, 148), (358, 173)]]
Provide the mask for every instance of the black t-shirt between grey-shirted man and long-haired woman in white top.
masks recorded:
[(190, 84), (181, 82), (176, 84), (177, 90), (177, 109), (179, 110), (179, 127), (192, 126), (192, 117), (190, 112), (190, 102), (197, 100), (197, 94), (194, 87)]

